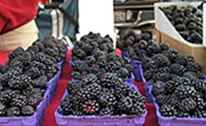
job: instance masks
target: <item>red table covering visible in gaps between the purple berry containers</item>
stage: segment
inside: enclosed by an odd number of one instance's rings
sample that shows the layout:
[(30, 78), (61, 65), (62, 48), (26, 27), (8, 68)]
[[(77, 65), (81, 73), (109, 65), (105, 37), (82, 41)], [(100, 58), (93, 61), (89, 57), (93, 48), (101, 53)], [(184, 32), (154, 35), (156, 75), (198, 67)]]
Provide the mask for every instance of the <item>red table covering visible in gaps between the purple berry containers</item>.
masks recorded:
[[(9, 52), (0, 52), (0, 65), (5, 65), (8, 61)], [(45, 110), (43, 126), (57, 126), (55, 120), (55, 110), (59, 106), (62, 96), (64, 95), (64, 91), (66, 90), (67, 83), (71, 79), (69, 76), (72, 69), (69, 65), (69, 61), (71, 59), (71, 50), (67, 52), (66, 63), (64, 64), (63, 71), (61, 73), (61, 78), (58, 81), (55, 96), (52, 99), (51, 103)], [(144, 83), (140, 81), (135, 81), (135, 85), (138, 87), (140, 93), (142, 95), (146, 95), (144, 90)], [(145, 125), (144, 126), (158, 126), (158, 119), (156, 116), (155, 106), (152, 103), (146, 103), (145, 107), (148, 111)]]

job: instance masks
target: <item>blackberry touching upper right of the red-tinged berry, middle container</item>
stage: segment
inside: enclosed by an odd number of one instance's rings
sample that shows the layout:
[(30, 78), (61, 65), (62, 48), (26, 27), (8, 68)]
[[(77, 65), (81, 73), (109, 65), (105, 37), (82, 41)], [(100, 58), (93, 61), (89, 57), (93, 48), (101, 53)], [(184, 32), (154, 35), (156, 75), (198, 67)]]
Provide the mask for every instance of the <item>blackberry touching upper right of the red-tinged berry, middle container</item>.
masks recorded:
[(114, 106), (117, 103), (116, 97), (111, 93), (101, 93), (99, 102), (104, 106)]

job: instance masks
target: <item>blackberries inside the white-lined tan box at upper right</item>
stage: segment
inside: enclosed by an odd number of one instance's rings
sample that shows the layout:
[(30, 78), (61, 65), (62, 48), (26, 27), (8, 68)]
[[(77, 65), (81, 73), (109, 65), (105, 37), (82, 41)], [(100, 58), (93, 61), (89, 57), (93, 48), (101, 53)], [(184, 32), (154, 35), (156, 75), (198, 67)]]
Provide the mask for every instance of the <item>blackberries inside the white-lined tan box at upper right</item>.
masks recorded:
[(161, 8), (180, 35), (188, 42), (202, 44), (202, 10), (193, 6), (169, 6)]

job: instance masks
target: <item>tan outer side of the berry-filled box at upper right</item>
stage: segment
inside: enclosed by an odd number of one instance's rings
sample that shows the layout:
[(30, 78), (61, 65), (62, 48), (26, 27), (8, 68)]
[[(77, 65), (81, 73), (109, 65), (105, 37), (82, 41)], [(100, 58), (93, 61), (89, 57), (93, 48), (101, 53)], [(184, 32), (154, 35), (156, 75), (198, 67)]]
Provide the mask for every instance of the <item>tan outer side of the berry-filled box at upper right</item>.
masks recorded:
[(190, 55), (195, 58), (195, 60), (200, 63), (203, 67), (203, 72), (206, 72), (206, 47), (203, 45), (184, 43), (167, 35), (163, 32), (155, 30), (155, 35), (157, 42), (166, 43), (170, 47), (177, 49), (180, 53), (185, 55)]

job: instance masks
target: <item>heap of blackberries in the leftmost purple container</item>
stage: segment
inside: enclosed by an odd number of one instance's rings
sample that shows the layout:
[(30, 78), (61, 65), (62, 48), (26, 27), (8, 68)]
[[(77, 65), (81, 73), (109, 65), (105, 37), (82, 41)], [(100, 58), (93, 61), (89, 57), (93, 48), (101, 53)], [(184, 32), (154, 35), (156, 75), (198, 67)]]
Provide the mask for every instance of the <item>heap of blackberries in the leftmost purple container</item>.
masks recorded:
[(8, 64), (0, 67), (0, 116), (32, 115), (65, 53), (66, 45), (54, 38), (14, 50)]

